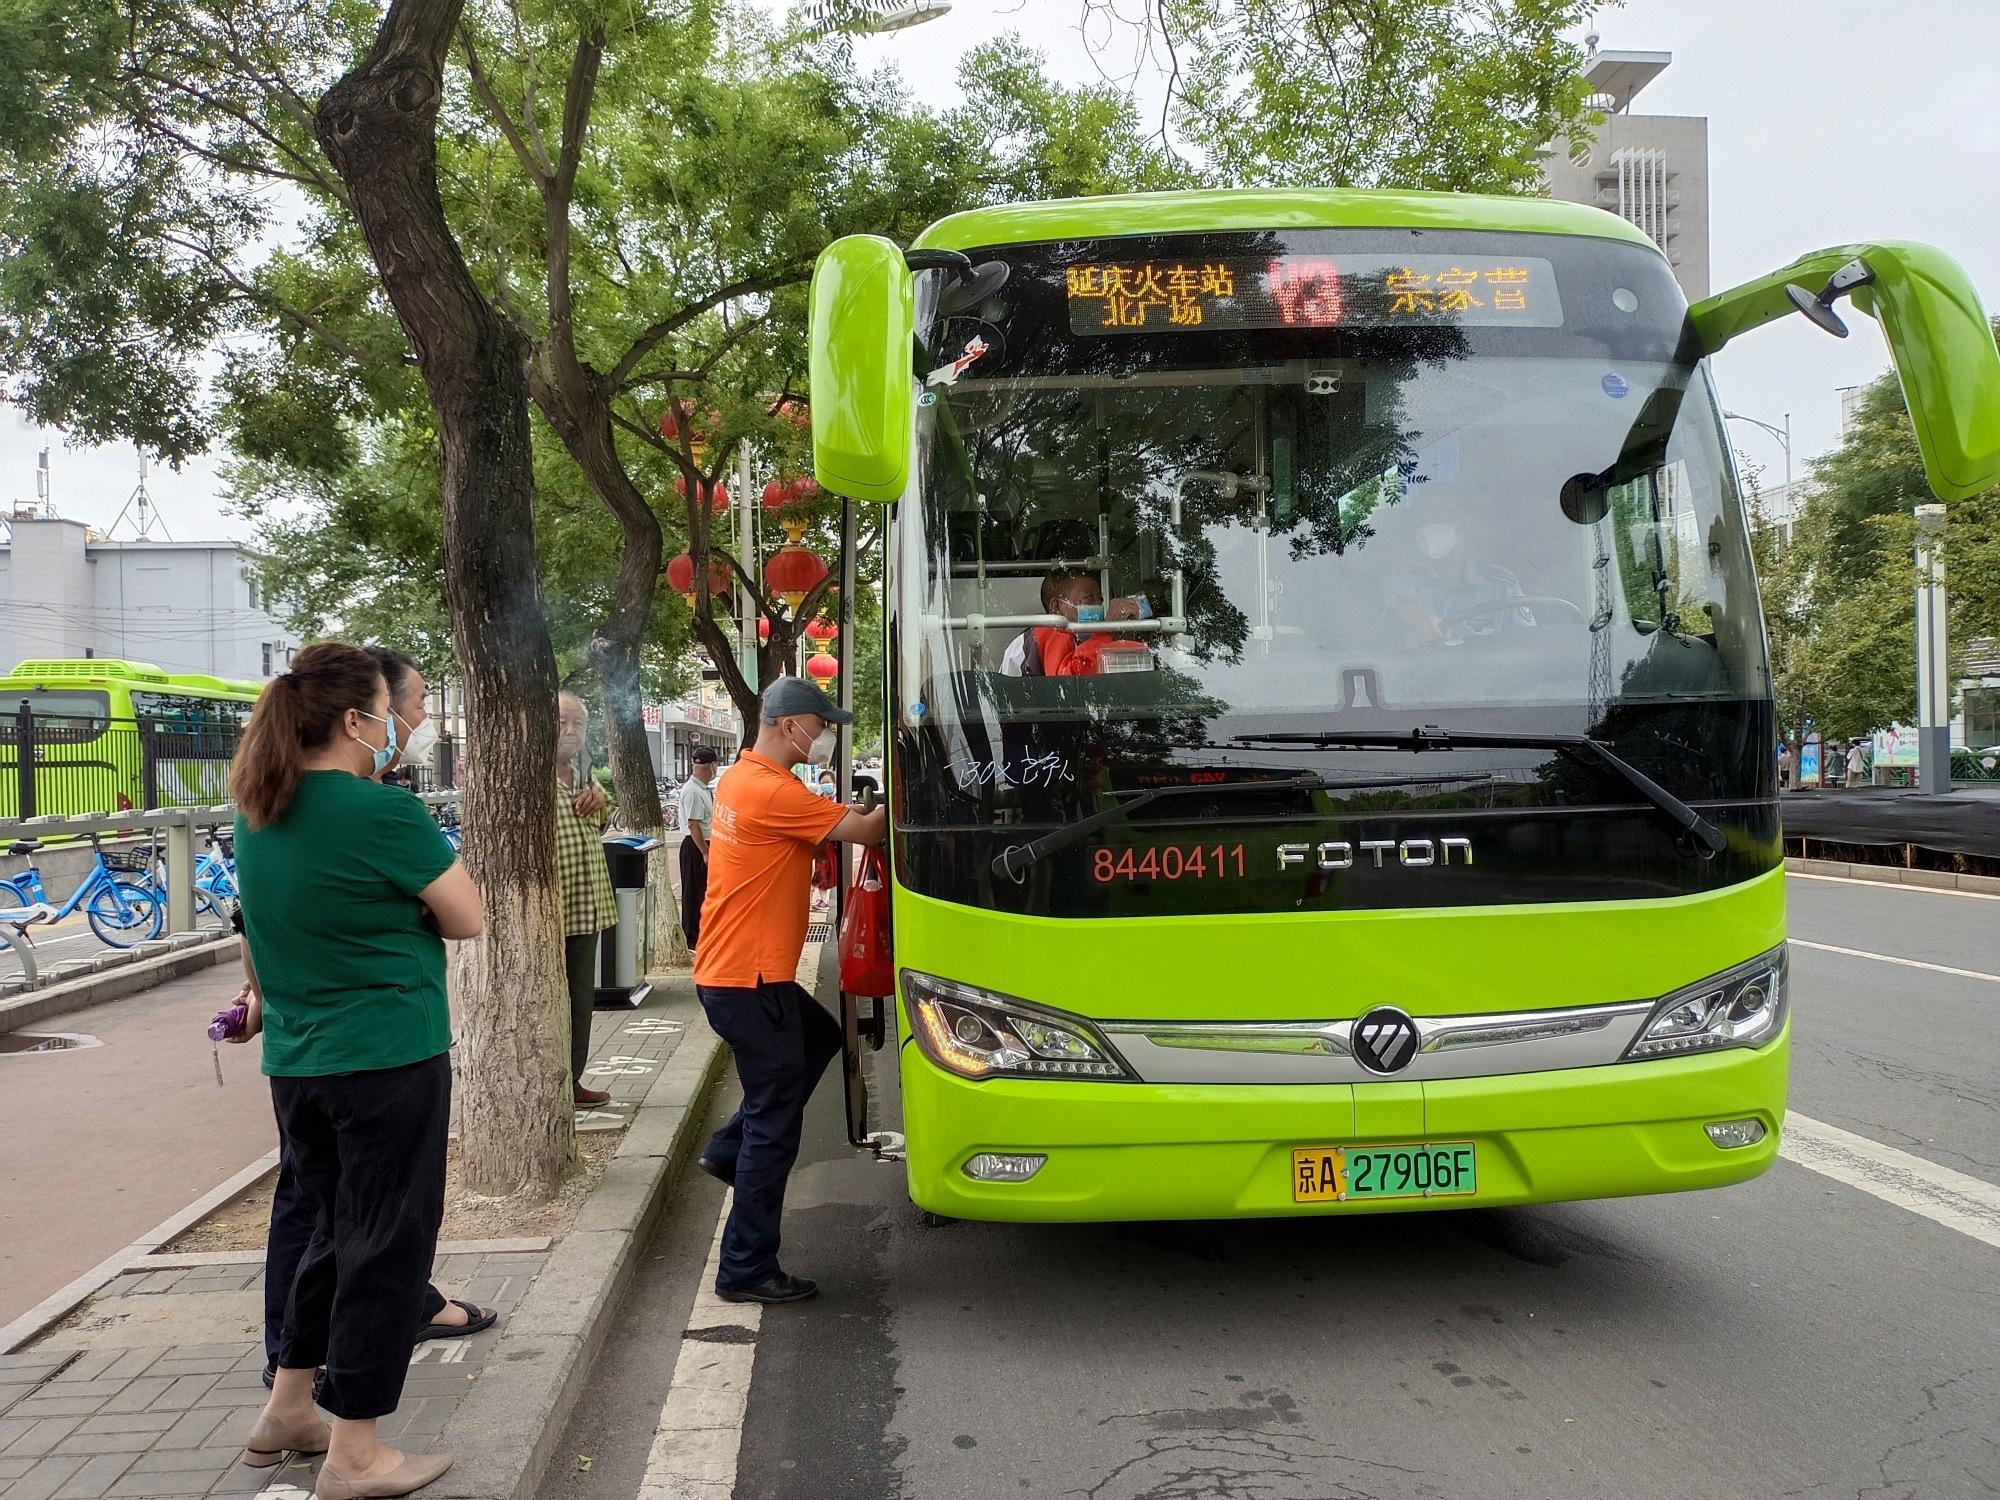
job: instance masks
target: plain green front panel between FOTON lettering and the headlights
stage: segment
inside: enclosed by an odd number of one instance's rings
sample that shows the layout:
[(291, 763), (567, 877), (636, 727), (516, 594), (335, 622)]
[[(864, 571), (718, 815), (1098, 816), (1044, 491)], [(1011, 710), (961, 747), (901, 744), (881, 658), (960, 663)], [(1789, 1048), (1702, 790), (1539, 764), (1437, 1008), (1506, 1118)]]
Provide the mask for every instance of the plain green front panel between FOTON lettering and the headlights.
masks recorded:
[[(1448, 874), (1448, 872), (1440, 872)], [(1328, 1020), (1650, 1000), (1784, 940), (1784, 870), (1644, 902), (1062, 920), (896, 886), (896, 964), (1096, 1020)]]

